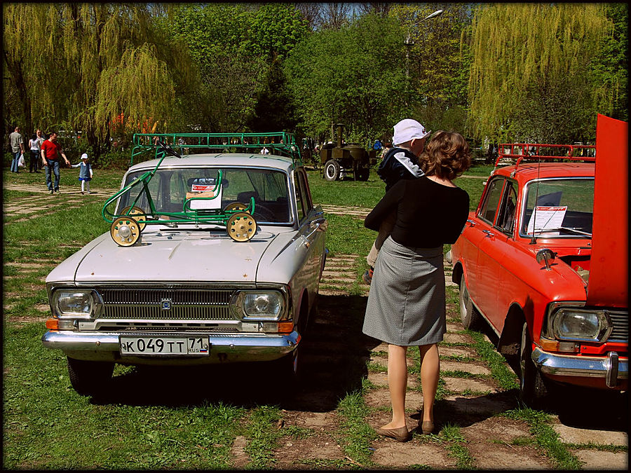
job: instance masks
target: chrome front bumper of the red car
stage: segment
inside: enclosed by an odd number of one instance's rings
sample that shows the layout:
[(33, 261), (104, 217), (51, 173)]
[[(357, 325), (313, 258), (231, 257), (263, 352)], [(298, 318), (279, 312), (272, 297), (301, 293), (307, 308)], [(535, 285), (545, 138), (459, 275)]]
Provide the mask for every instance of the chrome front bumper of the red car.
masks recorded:
[(599, 378), (604, 380), (609, 388), (615, 388), (618, 381), (629, 378), (629, 359), (620, 359), (616, 352), (609, 352), (606, 357), (576, 357), (557, 355), (536, 347), (532, 352), (532, 361), (543, 374), (555, 377)]

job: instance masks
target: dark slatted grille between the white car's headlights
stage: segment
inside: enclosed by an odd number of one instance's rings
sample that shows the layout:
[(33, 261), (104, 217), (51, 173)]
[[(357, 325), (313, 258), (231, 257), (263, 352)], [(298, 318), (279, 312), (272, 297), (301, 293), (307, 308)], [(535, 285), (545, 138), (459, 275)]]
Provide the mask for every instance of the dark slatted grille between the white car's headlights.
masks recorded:
[(100, 319), (234, 320), (230, 289), (101, 289)]

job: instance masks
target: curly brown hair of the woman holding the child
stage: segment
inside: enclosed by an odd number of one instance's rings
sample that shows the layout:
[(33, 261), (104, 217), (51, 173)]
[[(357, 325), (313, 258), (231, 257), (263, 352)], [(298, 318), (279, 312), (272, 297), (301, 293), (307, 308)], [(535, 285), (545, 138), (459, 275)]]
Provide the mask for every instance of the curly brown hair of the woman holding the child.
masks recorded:
[(457, 132), (438, 130), (421, 155), (428, 176), (452, 181), (471, 167), (471, 153), (466, 139)]

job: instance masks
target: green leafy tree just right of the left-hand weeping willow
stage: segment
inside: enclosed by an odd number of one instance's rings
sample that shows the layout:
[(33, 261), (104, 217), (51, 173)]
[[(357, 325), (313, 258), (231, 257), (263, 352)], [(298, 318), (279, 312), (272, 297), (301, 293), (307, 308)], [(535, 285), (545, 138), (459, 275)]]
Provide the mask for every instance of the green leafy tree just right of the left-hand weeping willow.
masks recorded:
[(299, 11), (285, 4), (183, 5), (174, 9), (172, 23), (174, 36), (188, 44), (201, 70), (201, 128), (240, 131), (265, 123), (270, 110), (255, 108), (257, 100), (278, 104), (273, 96), (285, 93), (278, 69), (271, 69), (308, 31)]

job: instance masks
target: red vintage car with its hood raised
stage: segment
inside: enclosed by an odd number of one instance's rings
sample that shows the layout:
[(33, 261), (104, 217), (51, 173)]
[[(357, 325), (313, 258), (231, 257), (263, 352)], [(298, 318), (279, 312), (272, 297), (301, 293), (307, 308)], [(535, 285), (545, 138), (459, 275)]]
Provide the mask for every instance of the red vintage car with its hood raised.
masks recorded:
[(627, 390), (627, 123), (596, 146), (501, 144), (447, 259), (467, 329), (487, 322), (526, 404), (559, 385)]

